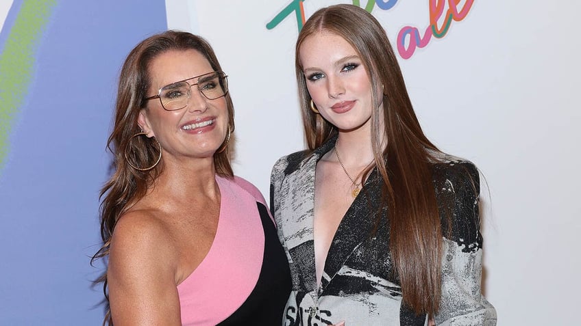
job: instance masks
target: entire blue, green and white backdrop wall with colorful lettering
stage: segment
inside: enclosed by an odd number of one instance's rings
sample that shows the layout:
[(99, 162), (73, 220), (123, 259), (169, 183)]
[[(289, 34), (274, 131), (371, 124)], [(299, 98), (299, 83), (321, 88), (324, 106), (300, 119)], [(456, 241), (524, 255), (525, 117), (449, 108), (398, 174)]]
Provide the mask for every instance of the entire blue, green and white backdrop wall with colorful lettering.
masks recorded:
[(378, 18), (425, 133), (480, 168), (498, 324), (576, 321), (579, 3), (14, 0), (0, 3), (0, 325), (102, 321), (103, 263), (89, 262), (116, 80), (137, 42), (165, 29), (209, 40), (236, 110), (234, 171), (268, 198), (273, 163), (304, 148), (295, 40), (335, 3)]

